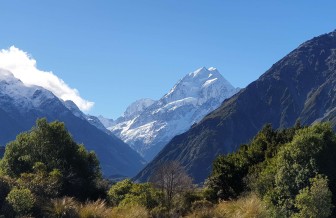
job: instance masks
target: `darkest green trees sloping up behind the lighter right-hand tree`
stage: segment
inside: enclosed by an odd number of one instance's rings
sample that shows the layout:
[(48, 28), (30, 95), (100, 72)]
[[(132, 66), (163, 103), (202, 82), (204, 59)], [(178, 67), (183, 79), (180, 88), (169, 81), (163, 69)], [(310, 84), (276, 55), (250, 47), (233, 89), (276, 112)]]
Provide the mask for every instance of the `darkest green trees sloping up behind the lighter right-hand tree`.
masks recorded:
[(206, 182), (208, 199), (228, 200), (246, 191), (247, 184), (243, 178), (248, 172), (257, 171), (259, 163), (274, 157), (280, 146), (291, 141), (300, 128), (298, 124), (294, 128), (276, 131), (271, 125), (265, 125), (250, 144), (240, 146), (235, 153), (218, 156)]

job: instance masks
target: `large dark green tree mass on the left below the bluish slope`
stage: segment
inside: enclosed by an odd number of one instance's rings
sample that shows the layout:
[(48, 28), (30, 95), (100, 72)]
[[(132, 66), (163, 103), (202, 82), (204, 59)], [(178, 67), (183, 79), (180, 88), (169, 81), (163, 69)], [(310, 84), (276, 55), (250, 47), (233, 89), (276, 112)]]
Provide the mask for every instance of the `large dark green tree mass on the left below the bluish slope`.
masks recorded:
[[(3, 174), (19, 179), (38, 195), (98, 197), (98, 160), (74, 142), (61, 122), (37, 120), (35, 127), (7, 145), (0, 167)], [(39, 179), (43, 179), (40, 184)]]

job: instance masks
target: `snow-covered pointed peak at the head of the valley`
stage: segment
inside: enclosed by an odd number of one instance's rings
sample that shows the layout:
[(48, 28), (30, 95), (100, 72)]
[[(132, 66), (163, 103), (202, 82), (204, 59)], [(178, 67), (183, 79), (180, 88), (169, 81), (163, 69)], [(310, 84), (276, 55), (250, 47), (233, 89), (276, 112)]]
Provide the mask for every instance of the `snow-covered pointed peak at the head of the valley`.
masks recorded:
[(174, 136), (238, 90), (215, 68), (203, 67), (186, 75), (160, 100), (136, 101), (108, 129), (151, 160)]

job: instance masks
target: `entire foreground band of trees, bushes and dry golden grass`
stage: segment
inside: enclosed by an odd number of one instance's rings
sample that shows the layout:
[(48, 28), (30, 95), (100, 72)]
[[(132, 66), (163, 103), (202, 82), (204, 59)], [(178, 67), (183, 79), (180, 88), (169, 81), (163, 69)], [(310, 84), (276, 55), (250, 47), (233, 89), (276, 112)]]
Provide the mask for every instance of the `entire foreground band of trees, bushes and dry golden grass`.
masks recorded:
[(266, 125), (237, 152), (219, 156), (203, 187), (178, 162), (148, 183), (105, 181), (94, 153), (63, 123), (38, 120), (0, 162), (4, 217), (330, 217), (336, 135), (326, 123)]

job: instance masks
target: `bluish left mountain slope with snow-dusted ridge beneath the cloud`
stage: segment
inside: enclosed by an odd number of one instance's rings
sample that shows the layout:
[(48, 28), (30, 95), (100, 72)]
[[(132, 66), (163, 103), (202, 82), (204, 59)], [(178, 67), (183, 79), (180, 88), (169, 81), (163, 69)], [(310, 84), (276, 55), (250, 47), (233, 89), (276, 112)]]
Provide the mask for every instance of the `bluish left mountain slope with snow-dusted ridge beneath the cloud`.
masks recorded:
[(0, 69), (0, 144), (29, 130), (41, 117), (65, 122), (78, 143), (95, 151), (106, 176), (133, 176), (143, 167), (144, 160), (135, 151), (106, 129), (105, 132), (90, 124), (72, 102), (63, 102), (42, 87), (26, 86)]

